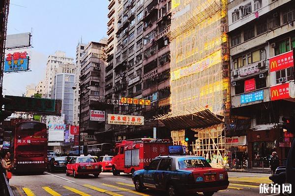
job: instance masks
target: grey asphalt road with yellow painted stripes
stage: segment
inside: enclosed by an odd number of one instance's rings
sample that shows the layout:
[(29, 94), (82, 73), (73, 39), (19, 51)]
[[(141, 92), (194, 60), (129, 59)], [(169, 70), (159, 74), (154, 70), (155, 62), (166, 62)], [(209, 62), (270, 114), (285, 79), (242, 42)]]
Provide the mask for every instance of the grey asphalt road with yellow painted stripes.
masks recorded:
[[(227, 190), (214, 196), (257, 196), (260, 183), (271, 183), (269, 174), (229, 172), (230, 185)], [(163, 192), (146, 190), (136, 192), (131, 175), (113, 176), (111, 172), (102, 173), (98, 178), (92, 175), (81, 178), (66, 176), (65, 173), (44, 175), (14, 175), (10, 181), (17, 196), (163, 196)], [(203, 195), (203, 194), (200, 194)]]

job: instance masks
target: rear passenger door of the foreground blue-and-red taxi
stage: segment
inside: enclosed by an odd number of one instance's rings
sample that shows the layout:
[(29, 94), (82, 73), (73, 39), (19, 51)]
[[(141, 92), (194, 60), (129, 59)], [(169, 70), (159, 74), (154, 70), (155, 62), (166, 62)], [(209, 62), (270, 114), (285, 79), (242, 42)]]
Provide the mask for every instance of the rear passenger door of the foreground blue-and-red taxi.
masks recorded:
[(155, 186), (157, 189), (166, 189), (167, 182), (172, 174), (171, 171), (171, 158), (162, 158), (158, 170), (155, 172)]

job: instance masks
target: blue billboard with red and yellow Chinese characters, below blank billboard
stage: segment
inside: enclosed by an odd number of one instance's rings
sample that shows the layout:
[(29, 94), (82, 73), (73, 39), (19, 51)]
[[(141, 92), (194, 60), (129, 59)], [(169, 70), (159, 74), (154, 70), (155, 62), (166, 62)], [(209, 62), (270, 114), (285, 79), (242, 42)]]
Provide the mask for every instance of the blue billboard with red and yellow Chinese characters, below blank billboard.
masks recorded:
[(29, 70), (29, 56), (26, 51), (8, 53), (4, 61), (4, 72), (21, 72)]

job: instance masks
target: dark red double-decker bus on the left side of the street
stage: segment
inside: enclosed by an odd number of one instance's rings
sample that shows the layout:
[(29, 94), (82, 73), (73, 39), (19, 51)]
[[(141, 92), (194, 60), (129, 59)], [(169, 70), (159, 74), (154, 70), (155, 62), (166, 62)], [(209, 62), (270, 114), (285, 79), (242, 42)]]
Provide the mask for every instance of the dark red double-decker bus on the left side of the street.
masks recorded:
[(14, 172), (43, 173), (47, 162), (45, 123), (17, 123), (14, 137)]

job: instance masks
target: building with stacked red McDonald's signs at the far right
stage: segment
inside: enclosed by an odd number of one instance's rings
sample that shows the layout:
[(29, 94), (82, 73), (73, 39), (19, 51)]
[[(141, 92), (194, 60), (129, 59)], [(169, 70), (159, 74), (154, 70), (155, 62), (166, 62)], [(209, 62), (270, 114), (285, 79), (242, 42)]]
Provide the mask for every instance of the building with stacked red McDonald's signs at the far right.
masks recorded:
[(273, 151), (287, 158), (293, 140), (282, 118), (295, 115), (295, 1), (229, 0), (228, 21), (235, 118), (227, 137), (238, 155), (248, 153), (249, 167), (268, 167), (258, 161)]

